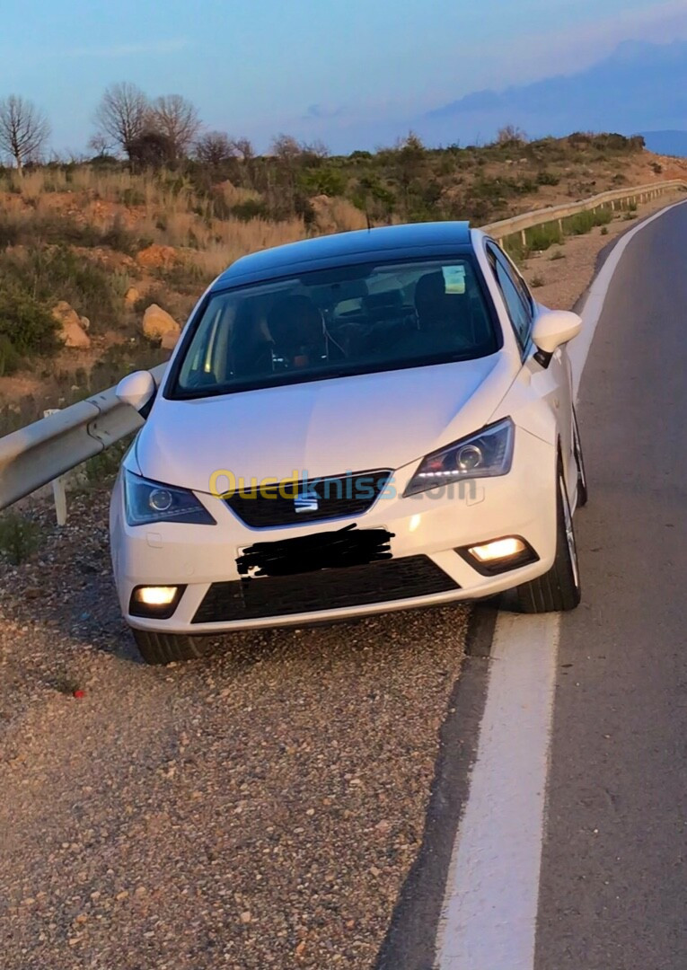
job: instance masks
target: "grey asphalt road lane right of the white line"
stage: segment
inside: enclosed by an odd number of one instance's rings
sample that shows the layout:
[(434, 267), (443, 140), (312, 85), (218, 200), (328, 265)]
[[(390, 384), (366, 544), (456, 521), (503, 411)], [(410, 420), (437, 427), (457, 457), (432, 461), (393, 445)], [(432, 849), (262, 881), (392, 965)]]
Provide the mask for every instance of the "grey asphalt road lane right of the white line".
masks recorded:
[(687, 967), (687, 207), (630, 242), (579, 396), (537, 970)]

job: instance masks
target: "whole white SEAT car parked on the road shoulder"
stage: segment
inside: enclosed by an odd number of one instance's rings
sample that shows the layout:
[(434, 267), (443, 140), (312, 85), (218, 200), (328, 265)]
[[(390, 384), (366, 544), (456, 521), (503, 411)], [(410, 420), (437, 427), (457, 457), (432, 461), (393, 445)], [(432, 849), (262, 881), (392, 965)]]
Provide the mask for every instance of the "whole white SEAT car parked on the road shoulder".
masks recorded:
[(525, 611), (576, 606), (580, 326), (461, 222), (234, 263), (159, 392), (147, 372), (117, 388), (147, 418), (111, 513), (147, 662), (200, 656), (201, 634), (507, 590)]

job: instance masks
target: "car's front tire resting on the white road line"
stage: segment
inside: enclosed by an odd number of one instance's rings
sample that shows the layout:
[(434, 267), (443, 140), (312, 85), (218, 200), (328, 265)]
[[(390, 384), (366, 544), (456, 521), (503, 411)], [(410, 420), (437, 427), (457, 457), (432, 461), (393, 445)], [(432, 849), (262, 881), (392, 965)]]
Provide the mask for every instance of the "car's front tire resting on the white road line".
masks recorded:
[(556, 558), (543, 576), (515, 590), (515, 608), (521, 613), (561, 612), (574, 609), (580, 600), (573, 513), (560, 462), (556, 492)]

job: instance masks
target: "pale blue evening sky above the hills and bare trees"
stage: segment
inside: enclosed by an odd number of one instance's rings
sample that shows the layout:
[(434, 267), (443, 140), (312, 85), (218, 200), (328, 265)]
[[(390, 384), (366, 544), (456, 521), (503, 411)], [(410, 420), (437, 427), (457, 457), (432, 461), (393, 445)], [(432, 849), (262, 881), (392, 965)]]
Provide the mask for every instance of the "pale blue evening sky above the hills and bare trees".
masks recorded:
[(260, 150), (390, 144), (482, 88), (572, 73), (627, 39), (687, 38), (687, 0), (0, 0), (0, 97), (81, 152), (105, 87), (175, 93)]

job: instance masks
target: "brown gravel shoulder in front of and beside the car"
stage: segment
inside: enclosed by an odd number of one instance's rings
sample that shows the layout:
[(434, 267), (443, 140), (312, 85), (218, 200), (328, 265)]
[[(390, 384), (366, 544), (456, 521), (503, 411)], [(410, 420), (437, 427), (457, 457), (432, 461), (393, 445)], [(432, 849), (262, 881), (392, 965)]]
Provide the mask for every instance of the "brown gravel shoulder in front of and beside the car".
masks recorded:
[[(3, 970), (372, 968), (417, 854), (468, 610), (139, 662), (107, 490), (0, 565)], [(76, 694), (76, 695), (75, 695)]]

